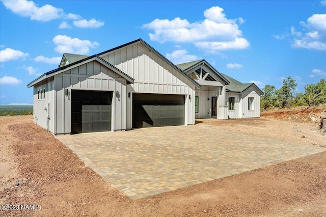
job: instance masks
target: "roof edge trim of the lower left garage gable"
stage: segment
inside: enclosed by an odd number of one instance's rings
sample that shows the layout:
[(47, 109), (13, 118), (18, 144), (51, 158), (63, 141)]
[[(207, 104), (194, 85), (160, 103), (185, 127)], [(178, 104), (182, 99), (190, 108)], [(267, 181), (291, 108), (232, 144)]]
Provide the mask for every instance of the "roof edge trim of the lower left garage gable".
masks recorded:
[(85, 58), (83, 60), (79, 60), (77, 62), (68, 64), (66, 66), (54, 69), (52, 71), (46, 72), (44, 74), (42, 74), (41, 76), (39, 76), (38, 78), (36, 78), (35, 80), (33, 80), (30, 84), (27, 85), (27, 88), (33, 87), (34, 85), (36, 85), (39, 82), (42, 82), (42, 80), (48, 78), (48, 77), (52, 77), (55, 76), (56, 74), (60, 74), (66, 70), (72, 69), (76, 66), (85, 64), (85, 63), (89, 63), (91, 61), (97, 61), (98, 63), (106, 66), (107, 68), (111, 69), (112, 71), (116, 72), (117, 74), (119, 74), (120, 76), (124, 77), (129, 83), (133, 83), (134, 79), (132, 77), (130, 77), (129, 75), (127, 75), (126, 73), (124, 73), (123, 71), (121, 71), (120, 69), (118, 69), (117, 67), (115, 67), (114, 65), (106, 62), (105, 60), (103, 60), (102, 58), (98, 57), (97, 55), (93, 55), (90, 56), (88, 58)]

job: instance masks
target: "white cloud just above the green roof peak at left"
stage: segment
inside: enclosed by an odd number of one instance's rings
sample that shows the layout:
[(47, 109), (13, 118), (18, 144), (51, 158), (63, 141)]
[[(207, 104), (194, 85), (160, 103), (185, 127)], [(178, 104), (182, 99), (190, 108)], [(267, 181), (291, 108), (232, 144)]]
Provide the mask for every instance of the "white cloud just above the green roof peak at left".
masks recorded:
[(87, 55), (90, 48), (96, 48), (99, 43), (96, 41), (80, 40), (78, 38), (70, 38), (66, 35), (57, 35), (52, 39), (53, 43), (57, 45), (55, 51), (59, 53), (75, 53), (79, 55)]

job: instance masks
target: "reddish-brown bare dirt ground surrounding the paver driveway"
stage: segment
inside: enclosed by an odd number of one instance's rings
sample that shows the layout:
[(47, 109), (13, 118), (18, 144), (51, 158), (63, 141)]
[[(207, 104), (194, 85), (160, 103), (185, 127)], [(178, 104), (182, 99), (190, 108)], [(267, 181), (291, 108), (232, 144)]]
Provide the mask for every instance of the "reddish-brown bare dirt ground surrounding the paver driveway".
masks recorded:
[[(200, 124), (326, 147), (314, 119), (278, 113)], [(0, 209), (0, 215), (326, 216), (326, 151), (133, 201), (35, 125), (32, 116), (1, 117), (0, 133), (0, 204), (31, 205)]]

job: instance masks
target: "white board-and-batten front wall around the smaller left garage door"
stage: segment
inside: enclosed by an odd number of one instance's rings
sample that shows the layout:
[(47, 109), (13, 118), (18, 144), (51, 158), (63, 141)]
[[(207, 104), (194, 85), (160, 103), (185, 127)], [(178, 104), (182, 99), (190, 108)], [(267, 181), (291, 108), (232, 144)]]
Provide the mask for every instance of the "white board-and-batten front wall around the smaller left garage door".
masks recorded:
[[(71, 132), (71, 90), (113, 91), (112, 130), (125, 129), (126, 79), (91, 61), (55, 75), (57, 126), (55, 134)], [(68, 89), (69, 95), (65, 95)], [(116, 97), (115, 91), (121, 95)]]

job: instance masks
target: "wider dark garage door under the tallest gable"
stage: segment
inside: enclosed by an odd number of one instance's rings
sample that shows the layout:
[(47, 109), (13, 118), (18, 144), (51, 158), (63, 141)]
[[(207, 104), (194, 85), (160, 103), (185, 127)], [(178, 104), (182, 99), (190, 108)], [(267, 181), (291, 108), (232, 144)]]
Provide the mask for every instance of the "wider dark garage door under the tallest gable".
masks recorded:
[(132, 127), (184, 125), (184, 95), (132, 95)]

